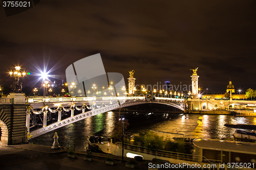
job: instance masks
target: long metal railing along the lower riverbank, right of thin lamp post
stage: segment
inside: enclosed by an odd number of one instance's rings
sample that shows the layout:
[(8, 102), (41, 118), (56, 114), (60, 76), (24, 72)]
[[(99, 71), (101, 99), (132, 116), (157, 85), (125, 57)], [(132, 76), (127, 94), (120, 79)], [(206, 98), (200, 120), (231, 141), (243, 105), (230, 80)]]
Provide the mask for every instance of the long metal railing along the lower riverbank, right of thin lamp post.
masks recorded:
[[(117, 142), (117, 145), (118, 146), (120, 145), (119, 148), (122, 148), (122, 146), (121, 146), (122, 143), (121, 142)], [(139, 147), (137, 145), (126, 144), (126, 143), (124, 144), (124, 149), (139, 152), (139, 153), (144, 153), (144, 154), (148, 154), (148, 155), (170, 158), (170, 159), (210, 163), (210, 161), (207, 158), (205, 158), (204, 156), (183, 154), (183, 153), (162, 151), (162, 150), (155, 150), (155, 149), (148, 149), (148, 148)]]

